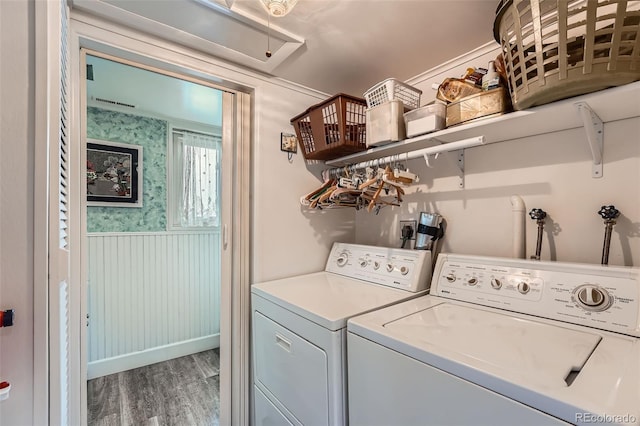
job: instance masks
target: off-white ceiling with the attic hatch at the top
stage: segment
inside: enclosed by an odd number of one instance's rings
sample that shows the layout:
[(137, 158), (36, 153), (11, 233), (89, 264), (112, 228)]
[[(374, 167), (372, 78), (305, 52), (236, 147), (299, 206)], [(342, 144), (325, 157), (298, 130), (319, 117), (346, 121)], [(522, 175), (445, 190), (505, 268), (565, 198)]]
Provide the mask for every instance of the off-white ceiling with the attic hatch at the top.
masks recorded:
[(73, 8), (328, 94), (407, 80), (493, 38), (498, 0), (300, 0), (271, 19), (259, 0), (73, 0)]

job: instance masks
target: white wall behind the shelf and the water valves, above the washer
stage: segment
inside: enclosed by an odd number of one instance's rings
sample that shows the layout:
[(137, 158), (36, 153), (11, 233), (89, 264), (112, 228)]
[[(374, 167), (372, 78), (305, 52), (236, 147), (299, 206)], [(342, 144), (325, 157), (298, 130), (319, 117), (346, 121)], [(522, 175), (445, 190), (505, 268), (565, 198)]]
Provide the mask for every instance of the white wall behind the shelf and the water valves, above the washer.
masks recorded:
[[(435, 97), (432, 83), (459, 77), (468, 65), (486, 66), (499, 53), (497, 45), (471, 52), (426, 72), (408, 83), (420, 88), (422, 103)], [(418, 219), (421, 211), (438, 212), (447, 221), (442, 251), (481, 255), (512, 255), (509, 198), (519, 195), (526, 212), (545, 210), (542, 258), (600, 263), (604, 238), (602, 205), (621, 211), (611, 239), (609, 264), (640, 266), (640, 118), (606, 123), (604, 173), (591, 177), (591, 155), (582, 129), (506, 141), (465, 150), (465, 188), (458, 188), (455, 157), (443, 157), (428, 169), (410, 160), (420, 183), (407, 189), (402, 207), (378, 216), (356, 215), (356, 240), (366, 244), (400, 245), (397, 222)], [(373, 232), (375, 230), (375, 232)], [(537, 228), (526, 217), (527, 257), (535, 253)]]

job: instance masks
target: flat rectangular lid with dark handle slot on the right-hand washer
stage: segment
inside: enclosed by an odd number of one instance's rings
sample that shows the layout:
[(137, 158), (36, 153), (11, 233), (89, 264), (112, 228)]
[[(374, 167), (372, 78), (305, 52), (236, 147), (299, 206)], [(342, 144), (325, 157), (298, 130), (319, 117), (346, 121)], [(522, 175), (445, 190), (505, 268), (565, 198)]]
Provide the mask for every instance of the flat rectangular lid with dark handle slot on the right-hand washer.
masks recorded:
[(597, 334), (450, 303), (384, 328), (437, 358), (510, 382), (551, 387), (568, 386), (601, 340)]

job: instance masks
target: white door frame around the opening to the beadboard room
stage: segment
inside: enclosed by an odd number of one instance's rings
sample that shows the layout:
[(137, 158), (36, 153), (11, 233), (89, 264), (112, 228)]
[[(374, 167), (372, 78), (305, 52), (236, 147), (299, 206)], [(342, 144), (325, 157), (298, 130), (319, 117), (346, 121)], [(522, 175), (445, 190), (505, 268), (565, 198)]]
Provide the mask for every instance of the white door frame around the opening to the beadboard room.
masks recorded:
[[(232, 90), (238, 90), (235, 94), (234, 112), (236, 120), (233, 121), (229, 132), (232, 134), (234, 145), (235, 175), (233, 177), (233, 223), (224, 225), (227, 230), (226, 241), (231, 256), (232, 268), (230, 276), (223, 277), (221, 294), (221, 410), (220, 424), (245, 425), (249, 424), (249, 319), (250, 319), (250, 278), (249, 278), (249, 244), (250, 244), (250, 114), (251, 101), (246, 92), (251, 88), (238, 85), (231, 81), (221, 82), (221, 79), (211, 74), (211, 64), (214, 63), (206, 55), (195, 55), (188, 49), (183, 49), (168, 42), (155, 40), (132, 30), (126, 30), (114, 24), (107, 23), (98, 18), (88, 17), (72, 12), (70, 49), (71, 49), (71, 145), (81, 150), (86, 129), (81, 128), (84, 120), (81, 105), (83, 93), (79, 90), (80, 81), (84, 70), (80, 69), (80, 48), (87, 47), (92, 50), (111, 54), (124, 59), (175, 72), (182, 76), (193, 76), (199, 80), (215, 82), (220, 86)], [(52, 70), (49, 70), (51, 73)], [(86, 114), (86, 113), (85, 113)], [(80, 152), (81, 158), (84, 158)], [(80, 162), (80, 164), (82, 164)], [(76, 188), (76, 197), (85, 194), (83, 188)], [(82, 239), (86, 238), (86, 217), (81, 221)], [(224, 239), (224, 238), (223, 238)], [(224, 242), (223, 242), (224, 244)], [(86, 250), (86, 246), (82, 250)], [(71, 350), (78, 350), (82, 356), (82, 378), (86, 380), (86, 328), (84, 316), (86, 315), (86, 253), (74, 253), (72, 258), (72, 279), (84, 283), (81, 286), (81, 300), (83, 310), (81, 312), (82, 342), (71, 342)], [(76, 266), (76, 267), (74, 267)], [(81, 346), (82, 345), (82, 346)], [(82, 349), (84, 347), (84, 349)], [(82, 350), (81, 350), (82, 349)], [(227, 352), (229, 351), (229, 352)], [(227, 372), (227, 374), (224, 374)], [(81, 383), (82, 418), (86, 421), (86, 386)], [(36, 407), (34, 406), (34, 409)]]

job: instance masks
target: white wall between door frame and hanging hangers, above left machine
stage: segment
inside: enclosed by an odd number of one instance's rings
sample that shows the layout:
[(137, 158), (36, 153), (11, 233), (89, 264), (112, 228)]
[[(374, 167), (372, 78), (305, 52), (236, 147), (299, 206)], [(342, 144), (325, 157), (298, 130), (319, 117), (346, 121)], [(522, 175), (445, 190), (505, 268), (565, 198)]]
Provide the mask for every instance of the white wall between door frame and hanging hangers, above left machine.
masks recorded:
[(323, 164), (307, 166), (300, 148), (291, 163), (280, 151), (289, 120), (318, 103), (276, 86), (256, 94), (253, 164), (253, 282), (324, 269), (334, 241), (354, 242), (353, 209), (309, 211), (300, 197), (320, 186)]

